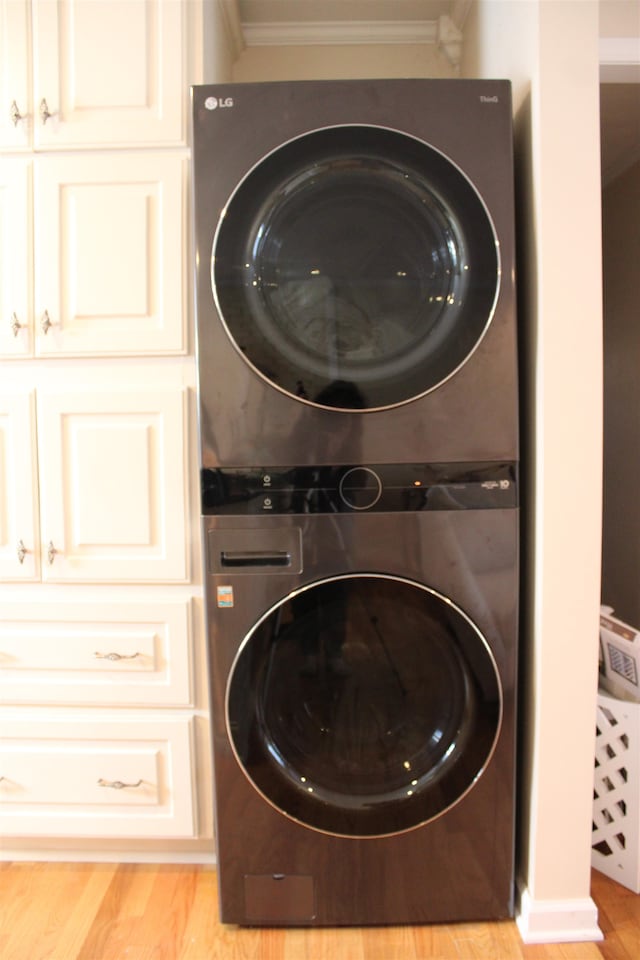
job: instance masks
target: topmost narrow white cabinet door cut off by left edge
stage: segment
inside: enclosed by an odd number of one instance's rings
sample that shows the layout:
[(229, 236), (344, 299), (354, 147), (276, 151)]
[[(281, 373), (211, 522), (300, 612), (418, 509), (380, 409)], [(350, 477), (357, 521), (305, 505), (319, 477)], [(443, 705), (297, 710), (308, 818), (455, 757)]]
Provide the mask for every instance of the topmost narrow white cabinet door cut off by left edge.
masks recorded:
[(28, 0), (0, 0), (0, 146), (30, 144), (31, 56)]

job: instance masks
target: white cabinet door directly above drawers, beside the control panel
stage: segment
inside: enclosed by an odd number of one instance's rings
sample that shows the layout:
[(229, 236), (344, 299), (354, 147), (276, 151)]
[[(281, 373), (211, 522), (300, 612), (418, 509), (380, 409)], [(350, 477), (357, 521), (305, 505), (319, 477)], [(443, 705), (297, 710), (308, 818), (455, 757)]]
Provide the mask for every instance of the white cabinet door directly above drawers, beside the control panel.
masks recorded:
[(188, 579), (185, 401), (38, 392), (43, 580)]

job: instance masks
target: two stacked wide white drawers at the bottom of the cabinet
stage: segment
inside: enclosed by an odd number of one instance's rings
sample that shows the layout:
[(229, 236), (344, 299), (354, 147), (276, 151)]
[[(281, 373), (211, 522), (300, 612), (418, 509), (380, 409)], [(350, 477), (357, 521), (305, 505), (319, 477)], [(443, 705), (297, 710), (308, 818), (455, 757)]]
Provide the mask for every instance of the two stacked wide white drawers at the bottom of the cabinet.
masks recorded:
[(187, 602), (4, 604), (2, 834), (192, 837), (191, 667)]

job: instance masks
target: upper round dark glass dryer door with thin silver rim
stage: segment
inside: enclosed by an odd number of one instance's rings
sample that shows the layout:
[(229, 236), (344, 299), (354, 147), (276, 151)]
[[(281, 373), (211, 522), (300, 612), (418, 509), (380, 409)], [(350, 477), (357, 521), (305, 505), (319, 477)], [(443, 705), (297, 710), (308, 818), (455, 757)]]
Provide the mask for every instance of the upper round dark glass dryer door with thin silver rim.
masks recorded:
[(278, 389), (322, 407), (397, 406), (436, 388), (491, 320), (499, 255), (461, 171), (391, 130), (290, 141), (231, 197), (212, 285), (234, 345)]

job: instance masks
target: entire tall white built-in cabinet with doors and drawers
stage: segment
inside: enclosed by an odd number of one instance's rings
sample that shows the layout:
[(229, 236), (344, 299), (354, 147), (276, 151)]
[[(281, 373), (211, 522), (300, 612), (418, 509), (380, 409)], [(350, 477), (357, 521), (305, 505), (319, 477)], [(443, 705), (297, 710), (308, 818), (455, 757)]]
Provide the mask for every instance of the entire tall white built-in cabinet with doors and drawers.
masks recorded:
[(8, 856), (211, 834), (188, 428), (202, 16), (199, 0), (0, 0)]

